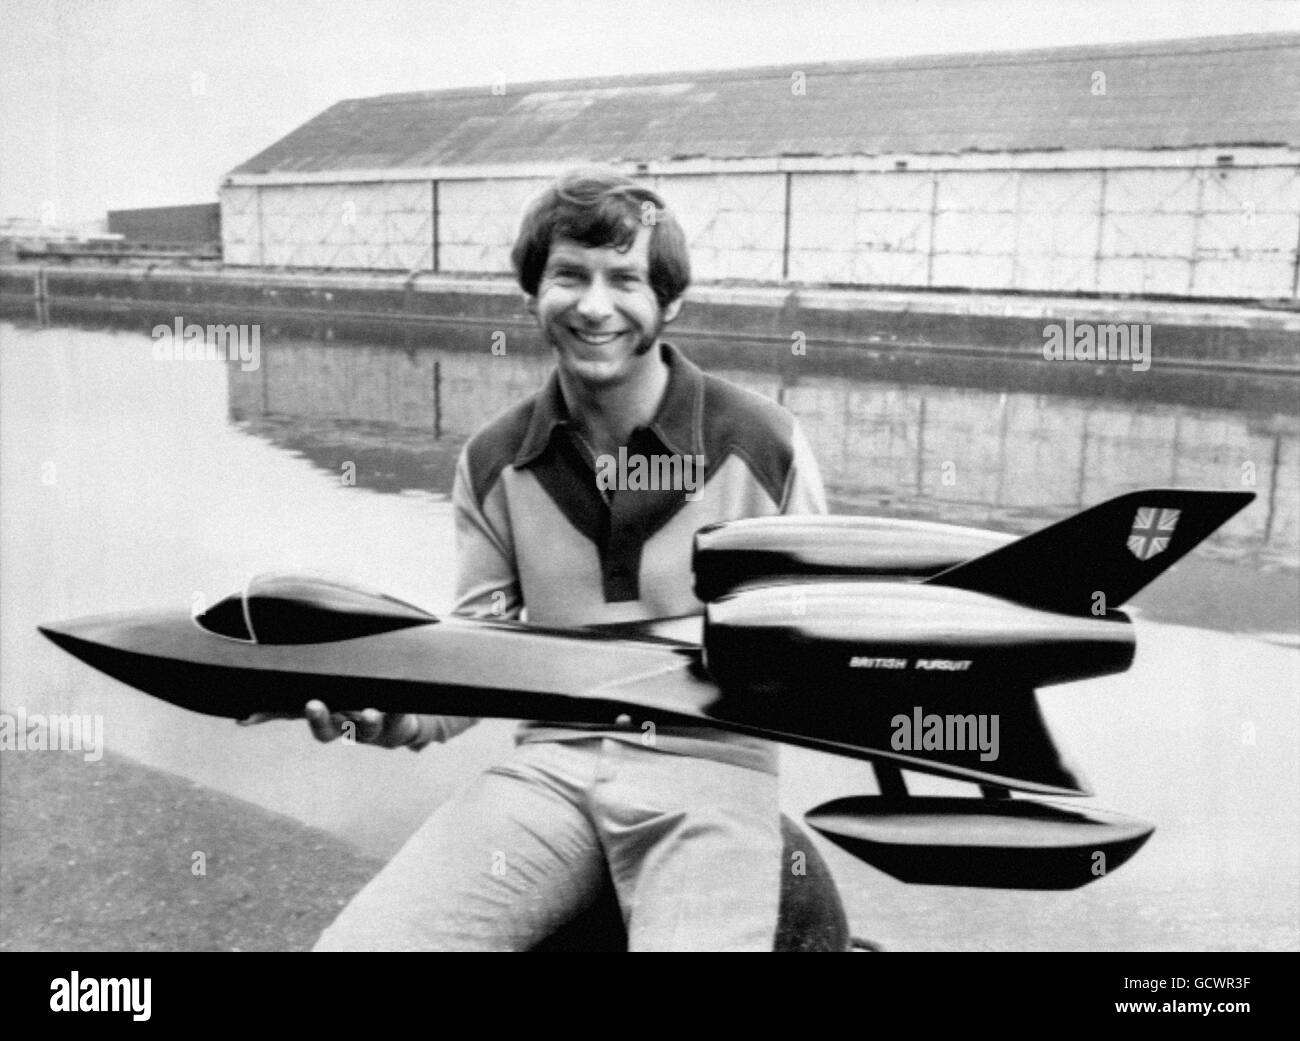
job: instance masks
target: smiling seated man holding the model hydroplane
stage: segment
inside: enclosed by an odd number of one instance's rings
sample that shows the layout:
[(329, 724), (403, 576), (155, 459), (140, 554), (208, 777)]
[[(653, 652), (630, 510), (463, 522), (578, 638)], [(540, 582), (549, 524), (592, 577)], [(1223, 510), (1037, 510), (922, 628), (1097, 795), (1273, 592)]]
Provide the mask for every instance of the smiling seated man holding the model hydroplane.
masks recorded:
[[(564, 626), (697, 613), (697, 529), (824, 512), (793, 417), (660, 339), (690, 268), (655, 192), (567, 174), (528, 211), (512, 259), (556, 364), (460, 455), (458, 613)], [(611, 487), (620, 448), (682, 486)], [(322, 741), (351, 720), (360, 741), (417, 749), (473, 723), (320, 702), (308, 720)], [(627, 724), (523, 724), (514, 755), (443, 803), (317, 950), (528, 949), (590, 903), (606, 867), (632, 950), (771, 950), (785, 867), (775, 747)]]

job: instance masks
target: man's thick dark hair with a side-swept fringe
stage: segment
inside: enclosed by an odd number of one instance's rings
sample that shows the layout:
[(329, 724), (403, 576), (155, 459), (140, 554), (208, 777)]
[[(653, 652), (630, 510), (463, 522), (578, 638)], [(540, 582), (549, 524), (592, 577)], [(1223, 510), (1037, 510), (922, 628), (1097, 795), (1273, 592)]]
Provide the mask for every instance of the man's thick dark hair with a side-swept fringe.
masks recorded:
[(529, 296), (537, 295), (556, 235), (624, 252), (646, 225), (650, 226), (650, 287), (659, 307), (667, 307), (690, 285), (690, 257), (681, 225), (650, 188), (604, 168), (562, 174), (528, 208), (510, 252), (519, 285)]

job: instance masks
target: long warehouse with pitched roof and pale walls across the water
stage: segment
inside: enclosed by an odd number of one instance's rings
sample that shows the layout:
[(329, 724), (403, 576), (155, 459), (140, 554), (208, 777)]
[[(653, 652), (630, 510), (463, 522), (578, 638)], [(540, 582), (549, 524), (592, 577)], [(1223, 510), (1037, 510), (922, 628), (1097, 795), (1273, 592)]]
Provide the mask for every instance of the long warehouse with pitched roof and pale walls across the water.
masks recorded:
[(589, 161), (701, 282), (1300, 298), (1297, 34), (341, 101), (226, 175), (225, 261), (507, 273)]

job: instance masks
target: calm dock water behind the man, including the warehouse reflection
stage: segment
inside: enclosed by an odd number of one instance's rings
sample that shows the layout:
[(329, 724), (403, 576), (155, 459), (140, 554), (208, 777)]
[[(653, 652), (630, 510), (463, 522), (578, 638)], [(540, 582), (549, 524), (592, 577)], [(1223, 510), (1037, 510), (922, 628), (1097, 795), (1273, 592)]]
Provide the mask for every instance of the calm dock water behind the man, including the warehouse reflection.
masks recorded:
[[(0, 324), (0, 704), (101, 713), (116, 751), (391, 853), (450, 790), (506, 754), (512, 724), (481, 724), (419, 756), (318, 746), (298, 724), (239, 729), (126, 690), (35, 625), (190, 608), (260, 569), (326, 571), (446, 610), (456, 454), (542, 382), (547, 356), (526, 341), (494, 356), (482, 330), (445, 330), (417, 347), (264, 330), (261, 366), (242, 372), (155, 361), (151, 324), (120, 326)], [(1171, 945), (1214, 946), (1225, 916), (1240, 945), (1264, 934), (1296, 944), (1296, 847), (1282, 838), (1294, 825), (1286, 807), (1300, 797), (1294, 412), (881, 381), (867, 360), (858, 373), (801, 372), (760, 355), (740, 368), (734, 351), (719, 364), (707, 346), (684, 346), (800, 417), (837, 512), (1028, 532), (1144, 485), (1254, 490), (1252, 507), (1139, 598), (1132, 673), (1044, 695), (1106, 804), (1164, 830), (1106, 880), (1131, 882), (1104, 903), (1032, 901), (1072, 916), (1056, 921), (1058, 936), (1101, 945), (1136, 928), (1124, 915), (1152, 899), (1182, 908)], [(1244, 721), (1261, 736), (1245, 752)], [(794, 751), (785, 762), (790, 810), (871, 790), (861, 764)], [(870, 908), (868, 934), (952, 945), (950, 931), (920, 928), (906, 910), (942, 920), (949, 890), (907, 890), (907, 903), (892, 880), (831, 860), (849, 879), (850, 915)], [(984, 936), (1013, 945), (1028, 936), (1002, 916), (1006, 894), (950, 893)], [(1109, 908), (1101, 919), (1098, 908)]]

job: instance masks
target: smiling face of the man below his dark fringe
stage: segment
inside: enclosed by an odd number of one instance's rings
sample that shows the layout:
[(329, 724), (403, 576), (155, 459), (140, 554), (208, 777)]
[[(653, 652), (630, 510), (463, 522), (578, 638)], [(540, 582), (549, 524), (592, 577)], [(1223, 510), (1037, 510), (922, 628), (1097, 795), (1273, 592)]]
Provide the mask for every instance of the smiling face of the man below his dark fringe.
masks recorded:
[(634, 379), (658, 360), (650, 348), (677, 316), (650, 286), (650, 229), (632, 248), (584, 246), (556, 237), (529, 309), (555, 348), (560, 368), (590, 387)]

